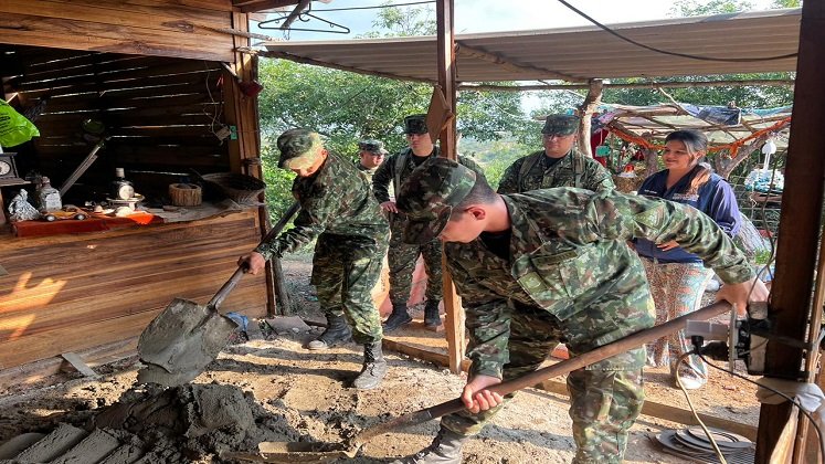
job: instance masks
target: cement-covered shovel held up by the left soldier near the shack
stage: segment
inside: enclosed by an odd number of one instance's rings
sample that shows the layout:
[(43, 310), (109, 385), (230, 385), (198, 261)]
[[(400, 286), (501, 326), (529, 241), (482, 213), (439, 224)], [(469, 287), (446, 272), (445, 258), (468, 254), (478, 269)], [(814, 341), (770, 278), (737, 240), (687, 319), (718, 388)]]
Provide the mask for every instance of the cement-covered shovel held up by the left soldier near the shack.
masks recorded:
[[(300, 205), (294, 203), (261, 243), (277, 235), (299, 209)], [(218, 308), (245, 271), (245, 266), (239, 266), (205, 306), (174, 298), (149, 323), (138, 341), (140, 361), (146, 365), (138, 371), (138, 383), (179, 386), (198, 377), (215, 359), (237, 329), (237, 325)]]

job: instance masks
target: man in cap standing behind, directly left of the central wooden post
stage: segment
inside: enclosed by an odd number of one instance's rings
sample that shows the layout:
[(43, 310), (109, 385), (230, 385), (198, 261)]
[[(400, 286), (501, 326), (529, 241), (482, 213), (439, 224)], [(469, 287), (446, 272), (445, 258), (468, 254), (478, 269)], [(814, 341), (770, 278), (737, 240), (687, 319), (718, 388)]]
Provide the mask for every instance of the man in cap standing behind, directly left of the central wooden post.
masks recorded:
[[(415, 271), (415, 262), (419, 255), (424, 257), (426, 268), (426, 303), (424, 305), (424, 325), (429, 329), (437, 329), (441, 326), (438, 304), (442, 299), (442, 273), (441, 273), (441, 243), (431, 240), (426, 243), (410, 245), (401, 241), (402, 231), (406, 225), (406, 218), (399, 213), (395, 202), (390, 199), (390, 184), (393, 191), (399, 191), (401, 183), (410, 177), (410, 173), (422, 162), (430, 158), (438, 157), (441, 150), (433, 144), (426, 127), (426, 115), (416, 114), (404, 118), (404, 134), (406, 135), (408, 148), (393, 155), (381, 165), (372, 177), (372, 191), (381, 203), (381, 208), (390, 213), (390, 251), (387, 260), (390, 265), (390, 302), (392, 302), (392, 314), (384, 321), (384, 331), (410, 324), (412, 317), (406, 308), (412, 289), (412, 276)], [(482, 168), (472, 159), (458, 157), (458, 162), (480, 173)]]

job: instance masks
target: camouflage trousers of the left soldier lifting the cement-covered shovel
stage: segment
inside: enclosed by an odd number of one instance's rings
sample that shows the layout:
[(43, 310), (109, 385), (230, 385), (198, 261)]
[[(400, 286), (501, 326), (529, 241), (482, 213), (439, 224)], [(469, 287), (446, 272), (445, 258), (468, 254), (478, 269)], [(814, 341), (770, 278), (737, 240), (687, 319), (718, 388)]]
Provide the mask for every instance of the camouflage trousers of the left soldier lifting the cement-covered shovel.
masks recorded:
[(345, 316), (352, 339), (360, 345), (380, 341), (381, 316), (372, 288), (381, 276), (387, 239), (322, 233), (313, 256), (313, 277), (325, 315)]

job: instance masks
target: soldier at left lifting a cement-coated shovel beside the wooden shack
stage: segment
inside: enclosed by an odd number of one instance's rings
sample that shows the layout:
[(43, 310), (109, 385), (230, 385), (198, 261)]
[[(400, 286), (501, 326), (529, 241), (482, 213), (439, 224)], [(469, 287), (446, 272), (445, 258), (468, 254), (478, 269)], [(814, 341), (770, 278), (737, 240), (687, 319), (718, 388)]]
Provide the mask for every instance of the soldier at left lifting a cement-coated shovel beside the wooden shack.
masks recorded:
[(318, 134), (290, 129), (277, 139), (279, 168), (298, 177), (293, 196), (300, 203), (295, 226), (242, 256), (256, 274), (266, 260), (293, 252), (318, 239), (313, 257), (313, 284), (327, 317), (327, 329), (309, 342), (326, 349), (349, 339), (364, 346), (358, 389), (376, 388), (387, 375), (381, 351), (381, 317), (371, 292), (381, 273), (389, 225), (370, 192), (369, 180), (356, 166), (324, 148)]

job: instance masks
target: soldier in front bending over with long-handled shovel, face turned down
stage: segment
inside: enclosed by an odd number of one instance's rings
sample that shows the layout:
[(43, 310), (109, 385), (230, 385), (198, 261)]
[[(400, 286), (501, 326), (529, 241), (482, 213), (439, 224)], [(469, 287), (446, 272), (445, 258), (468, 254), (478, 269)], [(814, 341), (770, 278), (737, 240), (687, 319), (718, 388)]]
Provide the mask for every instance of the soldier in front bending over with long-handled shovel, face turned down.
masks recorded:
[[(401, 187), (404, 241), (438, 236), (466, 308), (473, 360), (462, 400), (433, 444), (396, 463), (461, 462), (462, 445), (504, 402), (486, 388), (537, 369), (563, 341), (588, 352), (654, 325), (645, 271), (625, 242), (677, 241), (727, 283), (719, 297), (744, 308), (768, 291), (716, 223), (681, 204), (575, 188), (495, 193), (454, 161), (427, 161)], [(743, 309), (742, 309), (743, 313)], [(644, 401), (643, 348), (568, 377), (575, 464), (620, 463)]]

